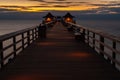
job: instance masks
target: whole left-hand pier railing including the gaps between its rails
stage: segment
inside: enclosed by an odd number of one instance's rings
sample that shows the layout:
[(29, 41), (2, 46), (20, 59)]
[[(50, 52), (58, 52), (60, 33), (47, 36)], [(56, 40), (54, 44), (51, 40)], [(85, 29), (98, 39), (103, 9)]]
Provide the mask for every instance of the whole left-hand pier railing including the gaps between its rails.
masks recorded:
[(18, 53), (40, 37), (41, 26), (50, 27), (53, 26), (53, 22), (0, 36), (0, 68), (15, 59)]

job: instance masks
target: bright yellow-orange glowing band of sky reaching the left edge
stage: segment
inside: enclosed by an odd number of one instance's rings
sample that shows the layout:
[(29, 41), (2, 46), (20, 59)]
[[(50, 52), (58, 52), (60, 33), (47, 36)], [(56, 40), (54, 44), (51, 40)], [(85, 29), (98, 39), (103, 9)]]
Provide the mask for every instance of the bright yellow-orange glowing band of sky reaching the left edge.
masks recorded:
[(30, 7), (30, 6), (1, 6), (1, 8), (5, 8), (8, 10), (15, 10), (15, 11), (25, 11), (25, 12), (41, 12), (47, 10), (59, 10), (59, 11), (79, 11), (79, 10), (90, 10), (99, 8), (98, 6), (71, 6), (71, 7)]

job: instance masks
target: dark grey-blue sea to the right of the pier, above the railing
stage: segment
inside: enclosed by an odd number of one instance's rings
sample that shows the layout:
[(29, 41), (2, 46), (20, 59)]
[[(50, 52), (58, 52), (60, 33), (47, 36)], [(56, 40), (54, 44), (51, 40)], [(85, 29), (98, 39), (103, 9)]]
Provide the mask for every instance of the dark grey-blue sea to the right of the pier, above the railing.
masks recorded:
[(119, 20), (77, 20), (76, 22), (84, 27), (101, 30), (102, 32), (120, 37)]

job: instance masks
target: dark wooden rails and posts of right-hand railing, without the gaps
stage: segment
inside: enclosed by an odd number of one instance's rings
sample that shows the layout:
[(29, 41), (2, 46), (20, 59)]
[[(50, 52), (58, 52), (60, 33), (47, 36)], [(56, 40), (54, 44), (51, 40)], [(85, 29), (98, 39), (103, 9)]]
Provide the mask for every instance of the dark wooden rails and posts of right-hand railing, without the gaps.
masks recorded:
[[(90, 44), (92, 44), (94, 50), (98, 49), (100, 54), (103, 57), (104, 55), (107, 56), (112, 61), (112, 64), (115, 67), (116, 67), (116, 64), (119, 65), (119, 69), (120, 69), (120, 61), (116, 58), (117, 55), (120, 55), (120, 51), (116, 48), (117, 43), (120, 45), (120, 38), (110, 35), (108, 33), (104, 33), (100, 30), (87, 28), (78, 24), (70, 23), (70, 22), (65, 22), (65, 23), (68, 26), (72, 26), (74, 30), (75, 28), (80, 29), (79, 31), (84, 30), (84, 34), (83, 32), (80, 32), (82, 36), (84, 36), (84, 42), (87, 43), (89, 46)], [(89, 34), (89, 33), (92, 33), (92, 34)], [(96, 36), (99, 36), (99, 38), (96, 38)], [(92, 41), (90, 41), (89, 38)], [(105, 39), (111, 41), (111, 46), (108, 43), (105, 43)], [(96, 43), (98, 43), (99, 45)], [(104, 48), (111, 50), (112, 56), (109, 55), (109, 53), (105, 52)]]

